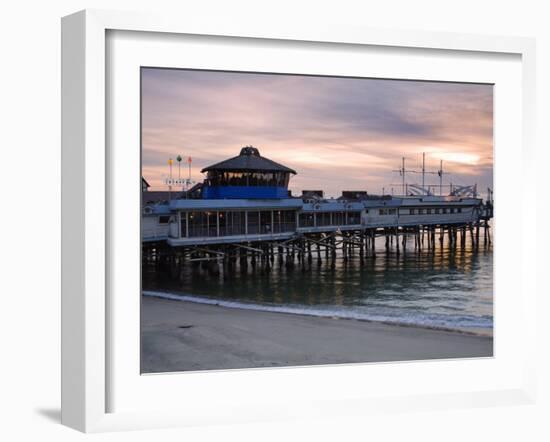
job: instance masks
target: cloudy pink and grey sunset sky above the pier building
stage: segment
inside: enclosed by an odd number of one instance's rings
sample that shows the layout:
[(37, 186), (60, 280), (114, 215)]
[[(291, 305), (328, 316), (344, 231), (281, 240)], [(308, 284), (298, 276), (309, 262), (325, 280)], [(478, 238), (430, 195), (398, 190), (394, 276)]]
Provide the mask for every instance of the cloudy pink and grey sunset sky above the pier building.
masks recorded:
[[(297, 171), (293, 194), (401, 192), (407, 170), (493, 187), (493, 87), (486, 84), (142, 68), (142, 174), (165, 190), (168, 159), (200, 170), (253, 145)], [(185, 171), (185, 173), (184, 173)], [(174, 162), (174, 177), (178, 167)], [(407, 173), (409, 184), (421, 175)], [(439, 177), (426, 174), (426, 184)]]

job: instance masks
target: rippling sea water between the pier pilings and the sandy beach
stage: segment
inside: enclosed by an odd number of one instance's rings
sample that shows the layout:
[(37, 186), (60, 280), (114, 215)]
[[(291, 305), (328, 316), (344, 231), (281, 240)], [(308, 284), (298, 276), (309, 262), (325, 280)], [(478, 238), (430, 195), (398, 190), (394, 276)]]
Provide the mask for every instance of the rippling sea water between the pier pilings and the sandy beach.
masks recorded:
[[(462, 249), (445, 242), (435, 251), (386, 251), (377, 239), (376, 258), (359, 255), (347, 263), (324, 259), (302, 270), (276, 265), (270, 272), (237, 271), (213, 276), (202, 269), (145, 265), (143, 290), (175, 299), (229, 307), (383, 321), (492, 335), (493, 253), (467, 241)], [(277, 259), (277, 258), (276, 258)]]

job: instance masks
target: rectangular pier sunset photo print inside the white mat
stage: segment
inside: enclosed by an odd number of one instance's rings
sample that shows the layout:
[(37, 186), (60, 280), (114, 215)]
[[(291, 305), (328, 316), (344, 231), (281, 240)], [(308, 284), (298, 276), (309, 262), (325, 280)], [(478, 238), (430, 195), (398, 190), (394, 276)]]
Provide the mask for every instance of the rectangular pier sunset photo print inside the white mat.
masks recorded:
[(493, 85), (141, 68), (141, 371), (493, 355)]

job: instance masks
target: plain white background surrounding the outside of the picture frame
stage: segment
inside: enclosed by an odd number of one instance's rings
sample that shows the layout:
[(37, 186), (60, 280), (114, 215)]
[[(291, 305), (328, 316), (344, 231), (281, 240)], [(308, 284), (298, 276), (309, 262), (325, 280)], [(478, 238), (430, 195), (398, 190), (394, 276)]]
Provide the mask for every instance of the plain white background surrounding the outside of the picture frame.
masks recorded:
[[(0, 6), (0, 438), (16, 440), (550, 440), (549, 326), (539, 325), (540, 405), (85, 436), (59, 425), (60, 17), (84, 8), (169, 11), (255, 21), (349, 23), (537, 38), (539, 191), (547, 186), (550, 13), (544, 1), (270, 2), (19, 0)], [(546, 197), (546, 195), (544, 195)], [(540, 204), (540, 210), (545, 210)], [(542, 216), (542, 213), (540, 213)], [(538, 267), (542, 291), (540, 223)], [(535, 240), (535, 238), (534, 238)], [(546, 290), (548, 291), (548, 290)], [(541, 293), (542, 295), (542, 293)], [(545, 294), (547, 295), (547, 294)], [(550, 312), (547, 296), (540, 311)], [(546, 317), (546, 313), (541, 315)]]

